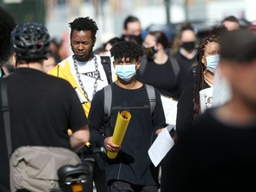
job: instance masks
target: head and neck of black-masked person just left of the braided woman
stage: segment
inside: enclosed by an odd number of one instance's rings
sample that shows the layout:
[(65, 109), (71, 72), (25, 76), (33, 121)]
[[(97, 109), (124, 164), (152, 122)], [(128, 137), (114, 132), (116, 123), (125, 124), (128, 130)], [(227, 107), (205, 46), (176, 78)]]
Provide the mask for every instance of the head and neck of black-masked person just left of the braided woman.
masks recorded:
[(184, 24), (176, 36), (179, 49), (174, 53), (180, 65), (189, 69), (196, 62), (196, 33), (190, 24)]

